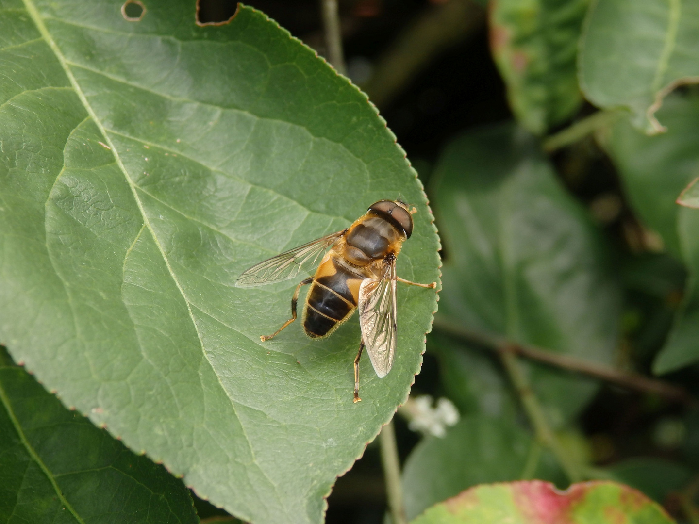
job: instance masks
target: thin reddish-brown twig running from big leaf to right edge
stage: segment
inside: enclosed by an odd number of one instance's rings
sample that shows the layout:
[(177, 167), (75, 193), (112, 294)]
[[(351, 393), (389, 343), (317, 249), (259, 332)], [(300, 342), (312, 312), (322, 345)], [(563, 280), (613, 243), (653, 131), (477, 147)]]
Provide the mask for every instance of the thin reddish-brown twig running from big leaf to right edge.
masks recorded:
[(586, 361), (582, 358), (576, 358), (570, 355), (555, 353), (554, 351), (535, 347), (531, 344), (518, 344), (500, 335), (470, 330), (442, 319), (435, 319), (434, 326), (445, 333), (490, 349), (498, 350), (507, 347), (510, 348), (510, 351), (514, 351), (514, 353), (521, 356), (560, 367), (564, 370), (586, 374), (590, 377), (602, 379), (612, 384), (617, 384), (617, 386), (633, 389), (635, 391), (655, 393), (668, 400), (684, 402), (693, 406), (699, 405), (698, 400), (687, 393), (684, 388), (680, 388), (679, 386), (669, 384), (662, 380), (644, 377), (644, 375), (639, 373), (615, 370), (603, 364)]

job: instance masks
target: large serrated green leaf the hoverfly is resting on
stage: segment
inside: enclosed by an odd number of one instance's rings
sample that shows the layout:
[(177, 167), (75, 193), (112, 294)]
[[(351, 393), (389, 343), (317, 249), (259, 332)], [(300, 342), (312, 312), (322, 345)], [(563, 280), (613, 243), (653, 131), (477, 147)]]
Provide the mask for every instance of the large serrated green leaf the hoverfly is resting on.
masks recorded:
[(319, 523), (336, 476), (407, 398), (435, 292), (398, 284), (378, 379), (356, 318), (288, 318), (295, 282), (240, 272), (383, 198), (417, 207), (398, 275), (438, 279), (426, 198), (356, 87), (251, 8), (0, 0), (0, 340), (64, 403), (254, 523)]

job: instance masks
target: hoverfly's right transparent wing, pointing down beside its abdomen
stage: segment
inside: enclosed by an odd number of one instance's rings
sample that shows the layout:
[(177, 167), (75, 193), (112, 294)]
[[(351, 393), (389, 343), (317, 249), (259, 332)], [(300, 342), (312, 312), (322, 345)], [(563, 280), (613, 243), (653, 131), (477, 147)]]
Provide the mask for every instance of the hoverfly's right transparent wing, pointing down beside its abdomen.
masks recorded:
[(371, 364), (379, 378), (391, 370), (396, 354), (396, 265), (380, 279), (359, 287), (359, 326)]

